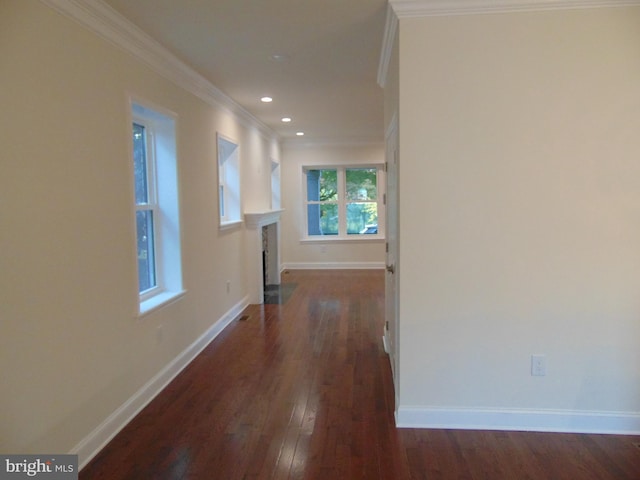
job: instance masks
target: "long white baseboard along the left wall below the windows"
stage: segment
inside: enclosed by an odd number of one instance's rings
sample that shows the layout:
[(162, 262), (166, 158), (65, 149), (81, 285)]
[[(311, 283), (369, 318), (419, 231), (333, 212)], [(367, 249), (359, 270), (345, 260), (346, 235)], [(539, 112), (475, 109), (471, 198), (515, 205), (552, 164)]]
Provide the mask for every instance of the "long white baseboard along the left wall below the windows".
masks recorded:
[(82, 469), (249, 305), (246, 296), (71, 449)]

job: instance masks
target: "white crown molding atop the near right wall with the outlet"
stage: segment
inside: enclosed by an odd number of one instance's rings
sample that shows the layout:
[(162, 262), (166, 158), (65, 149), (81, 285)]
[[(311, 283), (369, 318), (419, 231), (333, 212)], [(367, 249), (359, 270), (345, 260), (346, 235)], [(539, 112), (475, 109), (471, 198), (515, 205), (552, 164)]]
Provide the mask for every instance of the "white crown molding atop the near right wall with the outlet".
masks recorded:
[(389, 0), (398, 18), (640, 6), (640, 0)]

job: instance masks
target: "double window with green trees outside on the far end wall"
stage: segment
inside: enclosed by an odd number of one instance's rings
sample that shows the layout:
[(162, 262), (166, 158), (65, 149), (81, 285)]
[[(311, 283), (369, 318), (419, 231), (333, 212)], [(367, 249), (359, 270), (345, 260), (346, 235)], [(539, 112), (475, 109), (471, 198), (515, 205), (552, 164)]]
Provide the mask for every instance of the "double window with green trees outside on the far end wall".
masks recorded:
[(380, 238), (382, 166), (305, 167), (306, 237)]

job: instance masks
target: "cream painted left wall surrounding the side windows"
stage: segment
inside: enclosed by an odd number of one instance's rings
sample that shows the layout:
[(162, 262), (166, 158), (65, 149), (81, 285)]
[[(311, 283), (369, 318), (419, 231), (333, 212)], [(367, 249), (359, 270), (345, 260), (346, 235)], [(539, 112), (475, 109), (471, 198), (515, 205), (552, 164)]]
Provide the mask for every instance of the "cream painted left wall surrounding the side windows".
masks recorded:
[[(0, 451), (65, 453), (247, 295), (216, 132), (240, 143), (251, 208), (269, 208), (279, 149), (37, 0), (0, 3), (0, 66)], [(177, 118), (187, 290), (143, 318), (131, 96)]]

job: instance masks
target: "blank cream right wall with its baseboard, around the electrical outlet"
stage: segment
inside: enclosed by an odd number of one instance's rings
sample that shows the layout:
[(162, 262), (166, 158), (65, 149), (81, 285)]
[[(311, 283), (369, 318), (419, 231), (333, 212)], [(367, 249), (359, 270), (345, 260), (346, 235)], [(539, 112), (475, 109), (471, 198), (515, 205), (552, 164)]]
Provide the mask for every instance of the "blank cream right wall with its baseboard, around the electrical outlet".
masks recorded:
[(400, 19), (401, 424), (640, 431), (638, 25)]

